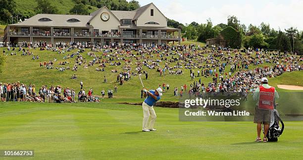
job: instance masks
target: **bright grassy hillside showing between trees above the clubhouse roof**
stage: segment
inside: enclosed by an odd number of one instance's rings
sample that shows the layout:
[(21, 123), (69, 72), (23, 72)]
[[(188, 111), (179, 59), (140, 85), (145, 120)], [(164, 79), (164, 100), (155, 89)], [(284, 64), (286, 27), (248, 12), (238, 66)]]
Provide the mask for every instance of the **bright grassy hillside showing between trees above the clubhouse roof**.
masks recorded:
[[(17, 3), (17, 9), (21, 13), (34, 12), (35, 7), (37, 6), (36, 0), (15, 0)], [(58, 14), (69, 14), (69, 10), (74, 7), (74, 0), (51, 0), (52, 4), (58, 8)], [(88, 5), (89, 13), (97, 10), (97, 7)], [(90, 9), (91, 8), (91, 9)]]

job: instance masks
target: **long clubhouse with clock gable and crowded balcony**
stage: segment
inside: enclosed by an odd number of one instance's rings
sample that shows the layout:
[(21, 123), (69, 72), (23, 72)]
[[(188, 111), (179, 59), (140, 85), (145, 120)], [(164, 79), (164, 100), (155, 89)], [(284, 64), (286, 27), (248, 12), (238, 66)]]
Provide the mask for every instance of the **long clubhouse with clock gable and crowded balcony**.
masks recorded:
[(102, 7), (90, 15), (37, 14), (7, 25), (4, 41), (89, 42), (94, 44), (140, 43), (146, 45), (181, 42), (180, 29), (167, 27), (167, 18), (153, 4), (133, 11)]

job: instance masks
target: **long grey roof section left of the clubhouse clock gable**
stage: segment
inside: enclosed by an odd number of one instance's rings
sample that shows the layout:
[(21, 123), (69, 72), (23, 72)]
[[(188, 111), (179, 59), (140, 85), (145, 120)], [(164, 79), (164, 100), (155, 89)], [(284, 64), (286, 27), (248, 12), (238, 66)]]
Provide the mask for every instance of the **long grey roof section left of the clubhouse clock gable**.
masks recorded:
[[(36, 14), (33, 17), (10, 26), (50, 26), (50, 27), (90, 27), (87, 22), (90, 15), (69, 15), (69, 14)], [(41, 18), (49, 18), (51, 21), (39, 21)], [(78, 19), (80, 22), (69, 22), (69, 19)]]

